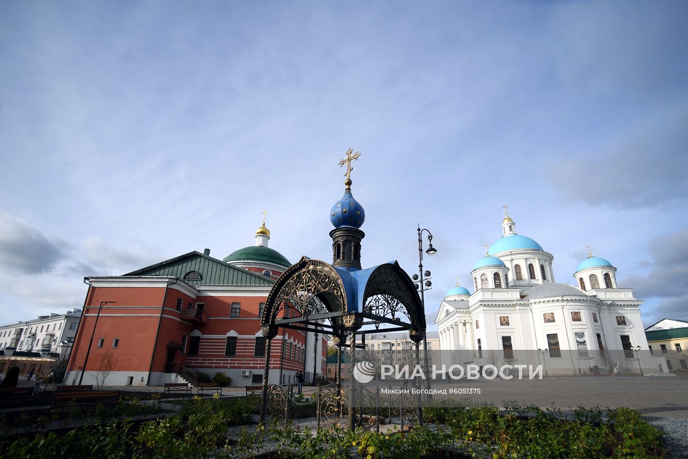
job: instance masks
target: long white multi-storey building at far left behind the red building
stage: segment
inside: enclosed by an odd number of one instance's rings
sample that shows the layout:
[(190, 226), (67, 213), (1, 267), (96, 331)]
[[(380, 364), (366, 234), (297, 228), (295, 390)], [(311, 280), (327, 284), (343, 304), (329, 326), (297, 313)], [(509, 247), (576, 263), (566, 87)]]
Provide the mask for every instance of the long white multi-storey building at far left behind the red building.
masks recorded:
[(5, 355), (12, 351), (39, 352), (54, 357), (69, 353), (81, 318), (81, 309), (65, 314), (39, 316), (34, 320), (0, 327), (0, 349)]

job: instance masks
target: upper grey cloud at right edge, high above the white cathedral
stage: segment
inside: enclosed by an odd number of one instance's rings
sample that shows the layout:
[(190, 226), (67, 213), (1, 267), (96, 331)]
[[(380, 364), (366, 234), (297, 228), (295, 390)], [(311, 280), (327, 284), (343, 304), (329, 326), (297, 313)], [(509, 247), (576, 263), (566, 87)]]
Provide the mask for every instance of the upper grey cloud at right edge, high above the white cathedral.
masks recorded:
[(624, 209), (686, 201), (688, 104), (651, 116), (593, 154), (548, 167), (564, 198)]

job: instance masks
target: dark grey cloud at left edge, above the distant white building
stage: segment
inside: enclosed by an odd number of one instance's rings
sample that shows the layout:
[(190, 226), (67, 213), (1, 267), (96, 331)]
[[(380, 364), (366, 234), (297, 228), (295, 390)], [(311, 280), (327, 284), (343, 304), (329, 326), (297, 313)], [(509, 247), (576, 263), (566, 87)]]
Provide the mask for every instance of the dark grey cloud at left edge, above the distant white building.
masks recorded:
[(47, 272), (65, 259), (65, 243), (47, 238), (8, 212), (0, 212), (0, 265), (25, 274)]

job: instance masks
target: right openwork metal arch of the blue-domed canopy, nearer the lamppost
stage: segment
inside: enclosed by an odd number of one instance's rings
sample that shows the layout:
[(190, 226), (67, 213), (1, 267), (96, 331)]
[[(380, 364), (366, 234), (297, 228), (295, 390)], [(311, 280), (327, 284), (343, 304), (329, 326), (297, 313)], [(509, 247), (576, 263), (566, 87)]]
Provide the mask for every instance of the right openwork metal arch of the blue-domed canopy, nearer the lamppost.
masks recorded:
[(425, 316), (420, 297), (409, 275), (399, 263), (378, 266), (368, 278), (363, 292), (363, 312), (375, 316), (405, 314), (413, 329), (425, 329)]

